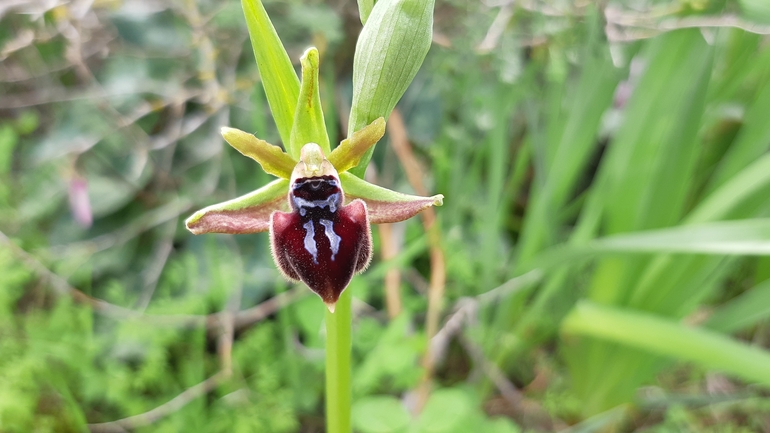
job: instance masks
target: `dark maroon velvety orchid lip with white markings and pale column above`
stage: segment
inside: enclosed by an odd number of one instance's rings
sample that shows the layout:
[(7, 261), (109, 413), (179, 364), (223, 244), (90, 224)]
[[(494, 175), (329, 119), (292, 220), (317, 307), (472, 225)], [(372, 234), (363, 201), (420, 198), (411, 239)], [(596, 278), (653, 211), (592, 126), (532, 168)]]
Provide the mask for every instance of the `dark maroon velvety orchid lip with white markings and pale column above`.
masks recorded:
[(270, 246), (278, 268), (334, 305), (356, 272), (371, 260), (371, 230), (366, 203), (345, 203), (339, 174), (321, 147), (302, 148), (289, 186), (291, 212), (274, 212)]

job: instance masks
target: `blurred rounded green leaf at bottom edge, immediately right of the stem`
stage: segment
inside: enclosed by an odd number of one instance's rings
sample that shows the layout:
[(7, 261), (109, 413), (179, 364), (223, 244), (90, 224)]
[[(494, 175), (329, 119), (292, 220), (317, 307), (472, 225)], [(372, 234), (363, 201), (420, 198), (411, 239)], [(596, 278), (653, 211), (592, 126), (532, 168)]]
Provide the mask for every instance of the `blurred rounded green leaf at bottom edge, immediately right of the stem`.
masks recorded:
[(409, 412), (395, 397), (364, 397), (353, 404), (353, 427), (362, 433), (393, 433), (409, 425)]

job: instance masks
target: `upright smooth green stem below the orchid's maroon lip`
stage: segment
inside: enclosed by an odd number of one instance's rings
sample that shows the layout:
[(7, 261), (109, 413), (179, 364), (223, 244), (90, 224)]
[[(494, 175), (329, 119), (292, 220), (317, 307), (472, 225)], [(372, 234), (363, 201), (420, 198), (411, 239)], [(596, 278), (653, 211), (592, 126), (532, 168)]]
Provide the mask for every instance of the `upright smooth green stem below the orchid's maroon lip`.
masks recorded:
[(326, 432), (350, 433), (350, 289), (326, 310)]

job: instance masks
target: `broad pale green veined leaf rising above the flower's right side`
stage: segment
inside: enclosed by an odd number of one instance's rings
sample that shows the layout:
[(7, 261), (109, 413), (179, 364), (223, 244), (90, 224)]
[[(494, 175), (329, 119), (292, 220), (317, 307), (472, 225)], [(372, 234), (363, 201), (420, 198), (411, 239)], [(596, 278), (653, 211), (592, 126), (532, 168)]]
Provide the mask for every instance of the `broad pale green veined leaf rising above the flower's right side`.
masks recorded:
[[(379, 0), (356, 44), (348, 137), (390, 112), (420, 69), (433, 38), (434, 0)], [(362, 177), (374, 148), (353, 174)]]

